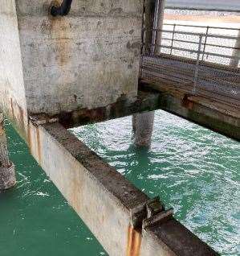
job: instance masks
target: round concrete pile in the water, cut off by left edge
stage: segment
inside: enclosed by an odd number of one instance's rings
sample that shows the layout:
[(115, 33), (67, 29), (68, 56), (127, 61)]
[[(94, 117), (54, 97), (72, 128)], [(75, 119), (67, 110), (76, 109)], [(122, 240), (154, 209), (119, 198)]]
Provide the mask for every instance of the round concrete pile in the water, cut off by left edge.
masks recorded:
[(3, 115), (0, 114), (0, 191), (16, 184), (14, 164), (10, 162), (3, 128)]

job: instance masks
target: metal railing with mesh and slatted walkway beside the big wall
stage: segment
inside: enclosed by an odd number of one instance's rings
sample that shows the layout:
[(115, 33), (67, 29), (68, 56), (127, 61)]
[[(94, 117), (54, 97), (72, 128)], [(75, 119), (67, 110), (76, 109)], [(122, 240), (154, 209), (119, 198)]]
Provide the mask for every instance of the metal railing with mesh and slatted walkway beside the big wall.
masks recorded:
[(238, 29), (165, 24), (163, 30), (152, 31), (162, 33), (161, 43), (143, 43), (143, 80), (189, 87), (193, 94), (205, 90), (239, 98), (240, 69), (229, 66), (231, 60), (239, 60), (234, 55), (235, 50), (240, 51), (236, 47)]

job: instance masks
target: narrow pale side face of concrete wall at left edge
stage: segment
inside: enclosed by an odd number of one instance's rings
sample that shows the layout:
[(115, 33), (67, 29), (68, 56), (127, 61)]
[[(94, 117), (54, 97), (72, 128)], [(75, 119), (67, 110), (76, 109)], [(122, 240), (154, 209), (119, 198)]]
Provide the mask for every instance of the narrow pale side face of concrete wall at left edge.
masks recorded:
[(14, 0), (1, 0), (0, 6), (0, 109), (23, 126), (26, 97)]

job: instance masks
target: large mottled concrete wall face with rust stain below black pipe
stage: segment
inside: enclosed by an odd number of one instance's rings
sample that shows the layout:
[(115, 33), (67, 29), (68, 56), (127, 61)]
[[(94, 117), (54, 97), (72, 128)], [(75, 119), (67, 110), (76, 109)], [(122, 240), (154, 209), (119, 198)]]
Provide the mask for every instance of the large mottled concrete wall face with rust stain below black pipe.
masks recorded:
[(48, 13), (51, 0), (15, 2), (29, 112), (92, 109), (136, 96), (143, 1), (75, 0), (58, 18)]

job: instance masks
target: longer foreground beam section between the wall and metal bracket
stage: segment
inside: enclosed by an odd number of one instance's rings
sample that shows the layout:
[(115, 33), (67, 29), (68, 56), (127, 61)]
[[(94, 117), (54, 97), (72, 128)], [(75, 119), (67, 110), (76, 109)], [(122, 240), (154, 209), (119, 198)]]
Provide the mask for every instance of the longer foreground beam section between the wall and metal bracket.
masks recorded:
[(147, 196), (59, 124), (32, 127), (31, 153), (104, 249), (127, 254), (129, 210)]

